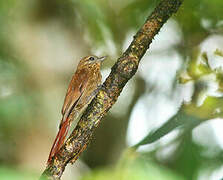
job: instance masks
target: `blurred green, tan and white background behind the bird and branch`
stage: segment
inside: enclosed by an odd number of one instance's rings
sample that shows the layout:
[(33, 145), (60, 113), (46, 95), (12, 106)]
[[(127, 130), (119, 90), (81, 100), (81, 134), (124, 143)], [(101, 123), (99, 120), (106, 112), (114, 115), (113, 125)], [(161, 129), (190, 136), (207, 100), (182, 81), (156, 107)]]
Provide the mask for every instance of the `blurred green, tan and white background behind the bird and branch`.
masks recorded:
[[(158, 2), (0, 1), (0, 179), (40, 176), (79, 59), (105, 79)], [(62, 179), (223, 178), (222, 7), (183, 3)]]

